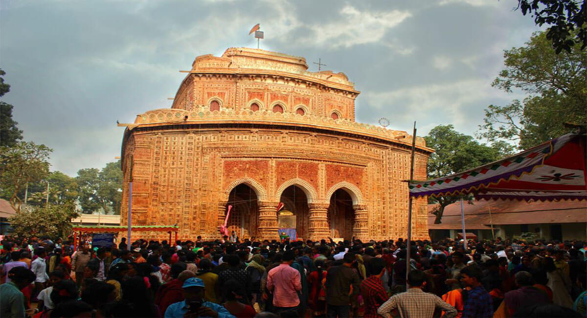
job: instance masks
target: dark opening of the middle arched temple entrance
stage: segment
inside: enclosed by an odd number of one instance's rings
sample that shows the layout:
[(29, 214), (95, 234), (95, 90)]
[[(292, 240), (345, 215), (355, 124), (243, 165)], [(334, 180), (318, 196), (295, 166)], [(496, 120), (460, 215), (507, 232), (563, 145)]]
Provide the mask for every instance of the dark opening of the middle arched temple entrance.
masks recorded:
[(284, 192), (282, 192), (279, 201), (285, 205), (284, 209), (280, 212), (286, 210), (292, 212), (292, 214), (296, 216), (296, 232), (298, 234), (298, 239), (307, 239), (309, 208), (308, 197), (305, 192), (296, 185), (290, 185), (284, 190)]

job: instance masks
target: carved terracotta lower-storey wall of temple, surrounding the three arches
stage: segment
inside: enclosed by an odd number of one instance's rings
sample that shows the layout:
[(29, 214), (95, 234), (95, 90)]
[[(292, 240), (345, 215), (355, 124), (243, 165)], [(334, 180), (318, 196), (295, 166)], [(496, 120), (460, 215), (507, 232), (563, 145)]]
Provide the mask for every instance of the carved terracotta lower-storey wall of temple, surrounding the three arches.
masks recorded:
[[(228, 194), (245, 183), (257, 192), (258, 205), (272, 211), (274, 221), (281, 192), (289, 185), (310, 194), (311, 218), (321, 205), (328, 208), (335, 190), (344, 188), (355, 198), (355, 211), (364, 215), (364, 220), (356, 219), (363, 227), (356, 236), (407, 234), (407, 187), (402, 182), (409, 178), (406, 148), (299, 130), (236, 128), (137, 131), (129, 141), (124, 156), (133, 158), (135, 225), (178, 224), (181, 238), (216, 237)], [(416, 159), (416, 178), (424, 178), (426, 155)], [(129, 180), (130, 167), (124, 176)], [(125, 182), (125, 200), (127, 191)], [(425, 238), (426, 201), (414, 202), (413, 218), (413, 236)], [(124, 202), (123, 225), (126, 219)], [(324, 238), (318, 236), (314, 238)]]

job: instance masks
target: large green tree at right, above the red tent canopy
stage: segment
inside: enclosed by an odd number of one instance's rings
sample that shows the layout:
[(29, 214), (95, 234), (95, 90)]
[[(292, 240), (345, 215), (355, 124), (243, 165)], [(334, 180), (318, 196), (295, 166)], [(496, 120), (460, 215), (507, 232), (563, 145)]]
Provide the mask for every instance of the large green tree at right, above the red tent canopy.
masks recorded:
[(508, 140), (529, 148), (568, 132), (565, 122), (587, 122), (587, 52), (576, 46), (556, 54), (545, 32), (537, 32), (522, 48), (505, 50), (505, 68), (492, 86), (528, 94), (523, 102), (490, 105), (479, 137)]

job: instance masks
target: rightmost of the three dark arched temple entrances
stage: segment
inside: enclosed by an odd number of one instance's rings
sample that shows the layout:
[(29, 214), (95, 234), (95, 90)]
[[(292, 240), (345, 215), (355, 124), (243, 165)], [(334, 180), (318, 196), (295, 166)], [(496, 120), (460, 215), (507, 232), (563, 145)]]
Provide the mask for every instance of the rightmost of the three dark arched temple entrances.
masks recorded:
[(336, 190), (330, 197), (328, 225), (331, 238), (351, 239), (355, 223), (355, 209), (350, 194), (343, 189)]

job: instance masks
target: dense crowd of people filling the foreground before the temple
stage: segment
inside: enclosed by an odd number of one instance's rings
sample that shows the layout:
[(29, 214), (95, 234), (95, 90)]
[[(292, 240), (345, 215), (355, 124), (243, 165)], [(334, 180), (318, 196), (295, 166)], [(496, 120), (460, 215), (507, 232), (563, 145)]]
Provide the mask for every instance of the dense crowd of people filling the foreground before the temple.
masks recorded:
[(89, 240), (5, 236), (0, 317), (587, 316), (582, 241)]

